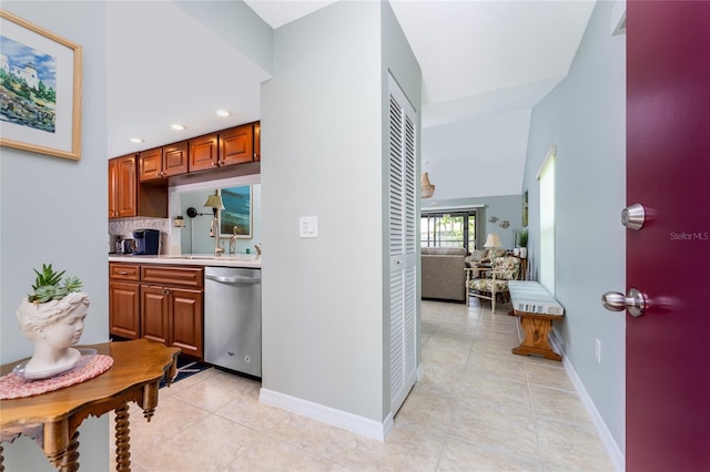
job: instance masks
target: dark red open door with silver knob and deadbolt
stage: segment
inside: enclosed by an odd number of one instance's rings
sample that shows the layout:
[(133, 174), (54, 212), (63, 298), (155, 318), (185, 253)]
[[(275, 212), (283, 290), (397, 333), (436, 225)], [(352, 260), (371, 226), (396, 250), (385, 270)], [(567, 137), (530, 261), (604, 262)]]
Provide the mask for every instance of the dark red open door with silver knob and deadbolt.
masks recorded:
[(710, 2), (627, 3), (628, 471), (710, 471)]

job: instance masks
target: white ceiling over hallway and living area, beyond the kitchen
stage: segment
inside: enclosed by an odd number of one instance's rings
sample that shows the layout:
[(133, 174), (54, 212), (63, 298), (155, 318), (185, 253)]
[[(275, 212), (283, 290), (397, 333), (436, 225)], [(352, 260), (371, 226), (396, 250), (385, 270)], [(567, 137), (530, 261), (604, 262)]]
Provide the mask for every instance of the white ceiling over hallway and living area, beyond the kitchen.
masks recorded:
[[(335, 3), (245, 2), (274, 29)], [(567, 74), (595, 0), (390, 4), (422, 66), (426, 127), (537, 103)]]

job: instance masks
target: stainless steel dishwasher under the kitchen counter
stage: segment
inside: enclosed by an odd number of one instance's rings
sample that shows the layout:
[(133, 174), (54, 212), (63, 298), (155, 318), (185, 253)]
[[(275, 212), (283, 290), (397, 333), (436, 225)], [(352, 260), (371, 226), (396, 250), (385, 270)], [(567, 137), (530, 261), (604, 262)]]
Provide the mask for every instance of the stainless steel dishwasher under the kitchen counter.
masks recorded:
[(262, 377), (262, 270), (205, 267), (204, 360)]

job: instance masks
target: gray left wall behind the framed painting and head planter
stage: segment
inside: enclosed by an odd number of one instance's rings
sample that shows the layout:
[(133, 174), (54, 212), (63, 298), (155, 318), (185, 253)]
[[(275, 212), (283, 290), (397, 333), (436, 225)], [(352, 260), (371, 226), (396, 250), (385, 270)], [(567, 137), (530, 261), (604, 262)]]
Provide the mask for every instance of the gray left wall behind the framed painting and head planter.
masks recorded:
[[(106, 14), (103, 2), (3, 1), (2, 9), (83, 47), (81, 161), (1, 150), (0, 362), (9, 363), (32, 355), (14, 314), (42, 263), (84, 283), (91, 307), (80, 342), (108, 340)], [(108, 470), (109, 417), (88, 418), (80, 432), (82, 470)], [(29, 439), (3, 447), (7, 470), (54, 470)]]

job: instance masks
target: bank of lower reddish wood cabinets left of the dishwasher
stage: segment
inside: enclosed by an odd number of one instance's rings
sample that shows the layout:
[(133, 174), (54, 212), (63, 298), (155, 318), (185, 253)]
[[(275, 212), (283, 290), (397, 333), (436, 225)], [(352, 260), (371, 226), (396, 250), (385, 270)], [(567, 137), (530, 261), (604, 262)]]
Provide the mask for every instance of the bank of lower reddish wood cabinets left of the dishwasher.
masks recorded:
[(109, 264), (112, 336), (149, 338), (202, 359), (202, 267)]

